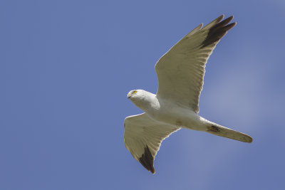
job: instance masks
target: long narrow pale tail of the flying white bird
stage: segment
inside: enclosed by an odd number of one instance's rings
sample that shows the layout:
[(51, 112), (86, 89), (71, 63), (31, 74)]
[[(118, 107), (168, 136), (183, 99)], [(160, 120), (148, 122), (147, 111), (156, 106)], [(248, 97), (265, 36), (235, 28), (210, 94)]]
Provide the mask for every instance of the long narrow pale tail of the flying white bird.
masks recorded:
[(226, 137), (229, 139), (235, 139), (242, 142), (252, 142), (252, 137), (250, 137), (248, 134), (244, 134), (242, 132), (237, 132), (235, 130), (231, 130), (227, 127), (223, 127), (222, 125), (218, 125), (214, 122), (210, 122), (210, 125), (207, 126), (206, 132), (209, 132), (211, 134), (220, 136), (220, 137)]

